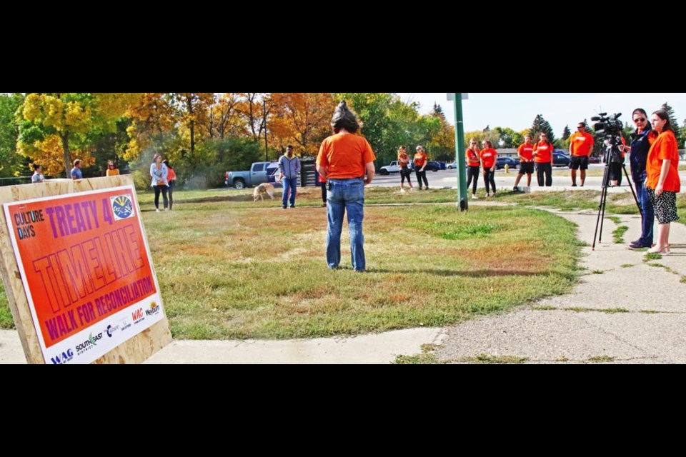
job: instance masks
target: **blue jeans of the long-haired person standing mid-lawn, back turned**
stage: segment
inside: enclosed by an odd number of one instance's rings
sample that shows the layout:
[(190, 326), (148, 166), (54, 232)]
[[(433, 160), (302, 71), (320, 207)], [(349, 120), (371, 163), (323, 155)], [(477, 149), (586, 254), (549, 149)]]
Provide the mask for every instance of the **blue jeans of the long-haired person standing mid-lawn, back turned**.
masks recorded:
[(362, 178), (330, 179), (331, 189), (327, 195), (327, 263), (329, 268), (338, 268), (341, 263), (341, 232), (343, 216), (348, 211), (348, 228), (350, 230), (350, 256), (352, 268), (364, 271), (364, 181)]

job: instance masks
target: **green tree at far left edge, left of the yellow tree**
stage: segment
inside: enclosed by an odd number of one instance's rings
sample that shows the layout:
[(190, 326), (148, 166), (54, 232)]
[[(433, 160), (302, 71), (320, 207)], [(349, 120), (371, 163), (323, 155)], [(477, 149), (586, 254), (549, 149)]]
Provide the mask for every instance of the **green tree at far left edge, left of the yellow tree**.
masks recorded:
[(0, 178), (28, 172), (21, 169), (24, 157), (16, 151), (19, 126), (14, 122), (14, 113), (22, 103), (21, 94), (0, 94)]

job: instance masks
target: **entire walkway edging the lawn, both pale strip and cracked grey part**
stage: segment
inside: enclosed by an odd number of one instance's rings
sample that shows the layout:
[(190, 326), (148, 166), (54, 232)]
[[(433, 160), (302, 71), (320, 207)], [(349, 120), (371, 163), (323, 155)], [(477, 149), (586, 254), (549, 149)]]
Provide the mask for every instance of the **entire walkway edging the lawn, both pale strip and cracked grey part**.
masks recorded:
[[(398, 355), (440, 346), (439, 360), (481, 354), (529, 363), (686, 363), (686, 226), (672, 224), (672, 253), (645, 262), (627, 246), (640, 216), (616, 216), (629, 227), (612, 243), (617, 224), (605, 221), (602, 245), (592, 244), (597, 213), (556, 212), (579, 226), (588, 244), (582, 281), (572, 293), (530, 303), (445, 329), (417, 328), (354, 338), (298, 341), (174, 341), (146, 363), (390, 363)], [(656, 225), (657, 229), (657, 225)], [(0, 331), (0, 363), (25, 363), (16, 331)]]

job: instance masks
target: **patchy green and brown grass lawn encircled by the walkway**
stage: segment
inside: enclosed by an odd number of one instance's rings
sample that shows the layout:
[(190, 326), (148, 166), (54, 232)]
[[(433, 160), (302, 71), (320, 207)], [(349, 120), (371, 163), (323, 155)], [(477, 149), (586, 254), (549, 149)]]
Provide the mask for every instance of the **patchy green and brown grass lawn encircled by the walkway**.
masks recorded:
[[(565, 293), (580, 273), (575, 227), (546, 211), (472, 206), (460, 214), (441, 204), (454, 201), (454, 191), (380, 188), (367, 192), (369, 272), (350, 268), (347, 229), (344, 268), (329, 271), (319, 189), (299, 195), (298, 208), (284, 211), (278, 200), (254, 204), (250, 190), (177, 192), (174, 211), (159, 214), (151, 193), (139, 196), (175, 338), (445, 326)], [(496, 201), (534, 196), (502, 193)], [(424, 205), (395, 206), (406, 203)], [(0, 294), (0, 326), (11, 325)]]

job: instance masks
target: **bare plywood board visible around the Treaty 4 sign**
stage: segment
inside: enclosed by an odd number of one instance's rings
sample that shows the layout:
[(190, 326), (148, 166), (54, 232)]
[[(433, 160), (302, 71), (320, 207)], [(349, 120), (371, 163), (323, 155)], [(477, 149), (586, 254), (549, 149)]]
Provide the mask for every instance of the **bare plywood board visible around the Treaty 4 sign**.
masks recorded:
[[(42, 184), (0, 187), (0, 210), (1, 204), (11, 201), (76, 194), (84, 191), (130, 186), (131, 184), (133, 184), (131, 177), (125, 175), (81, 179), (79, 181), (63, 179), (46, 181)], [(24, 291), (24, 283), (21, 281), (19, 266), (17, 266), (14, 249), (9, 238), (4, 211), (0, 211), (0, 266), (9, 307), (11, 308), (12, 316), (14, 316), (16, 329), (19, 331), (19, 338), (26, 354), (26, 361), (29, 363), (45, 363), (36, 328), (31, 318), (31, 310), (29, 309), (29, 301), (26, 298), (26, 291)], [(169, 331), (169, 322), (165, 317), (161, 321), (154, 323), (153, 326), (121, 343), (94, 361), (94, 363), (141, 363), (171, 341), (172, 333)]]

